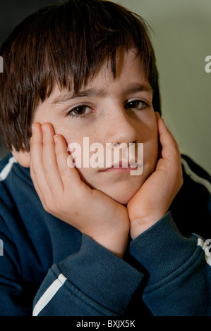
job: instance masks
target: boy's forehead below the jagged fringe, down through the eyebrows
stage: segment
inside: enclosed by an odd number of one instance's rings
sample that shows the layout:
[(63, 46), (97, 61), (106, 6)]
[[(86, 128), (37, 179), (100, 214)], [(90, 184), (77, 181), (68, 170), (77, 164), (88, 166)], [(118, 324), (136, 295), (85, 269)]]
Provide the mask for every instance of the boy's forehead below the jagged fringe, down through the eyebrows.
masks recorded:
[(122, 94), (128, 92), (147, 91), (152, 92), (150, 83), (145, 78), (142, 63), (134, 49), (116, 53), (116, 77), (107, 60), (100, 65), (93, 77), (80, 87), (78, 92), (62, 89), (56, 86), (50, 96), (51, 104), (59, 104), (76, 97), (83, 96), (107, 96), (110, 92), (121, 90)]

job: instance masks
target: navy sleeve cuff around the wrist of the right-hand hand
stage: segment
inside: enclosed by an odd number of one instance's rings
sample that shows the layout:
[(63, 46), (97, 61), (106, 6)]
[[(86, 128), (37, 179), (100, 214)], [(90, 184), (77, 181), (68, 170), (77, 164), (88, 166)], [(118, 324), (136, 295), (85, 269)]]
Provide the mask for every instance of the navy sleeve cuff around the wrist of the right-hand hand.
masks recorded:
[(169, 211), (155, 225), (133, 239), (130, 255), (147, 270), (147, 285), (152, 285), (186, 263), (196, 245), (195, 237), (181, 235)]

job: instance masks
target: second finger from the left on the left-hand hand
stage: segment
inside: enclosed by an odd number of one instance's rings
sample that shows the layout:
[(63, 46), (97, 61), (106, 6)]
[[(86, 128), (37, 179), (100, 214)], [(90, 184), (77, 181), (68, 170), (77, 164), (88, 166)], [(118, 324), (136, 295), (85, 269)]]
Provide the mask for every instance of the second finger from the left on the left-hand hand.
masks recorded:
[(64, 186), (56, 160), (54, 135), (54, 127), (51, 123), (42, 124), (42, 163), (44, 173), (52, 196), (58, 196), (58, 194), (62, 194), (64, 192)]

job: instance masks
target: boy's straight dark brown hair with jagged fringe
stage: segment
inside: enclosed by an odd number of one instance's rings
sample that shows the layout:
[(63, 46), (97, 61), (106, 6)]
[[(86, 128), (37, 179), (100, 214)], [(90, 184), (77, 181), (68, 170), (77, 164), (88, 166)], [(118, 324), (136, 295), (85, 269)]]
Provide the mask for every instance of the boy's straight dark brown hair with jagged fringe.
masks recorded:
[(108, 59), (114, 78), (116, 48), (135, 46), (160, 113), (155, 54), (145, 20), (101, 0), (68, 0), (25, 18), (1, 46), (0, 130), (6, 149), (30, 151), (33, 113), (52, 92), (85, 85)]

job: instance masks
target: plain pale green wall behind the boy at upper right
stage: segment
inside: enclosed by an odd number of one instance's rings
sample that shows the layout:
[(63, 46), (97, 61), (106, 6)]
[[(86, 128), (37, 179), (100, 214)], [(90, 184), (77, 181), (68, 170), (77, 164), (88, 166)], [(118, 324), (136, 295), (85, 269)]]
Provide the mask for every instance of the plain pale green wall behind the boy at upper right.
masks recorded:
[(163, 117), (181, 152), (211, 173), (211, 73), (205, 72), (205, 57), (211, 56), (211, 1), (114, 2), (152, 26)]

